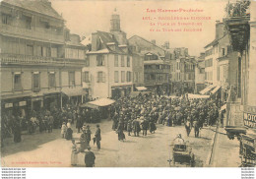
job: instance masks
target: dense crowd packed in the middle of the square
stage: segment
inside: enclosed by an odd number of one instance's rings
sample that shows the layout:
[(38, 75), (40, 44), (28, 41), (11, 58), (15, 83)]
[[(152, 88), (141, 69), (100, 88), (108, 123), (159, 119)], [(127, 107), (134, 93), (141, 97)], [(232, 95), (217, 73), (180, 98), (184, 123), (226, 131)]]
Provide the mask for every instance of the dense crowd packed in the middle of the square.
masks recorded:
[(139, 94), (135, 97), (127, 96), (116, 100), (110, 109), (113, 120), (112, 129), (118, 134), (118, 140), (125, 139), (124, 131), (143, 136), (147, 131), (155, 133), (156, 123), (165, 126), (184, 124), (189, 135), (191, 128), (195, 128), (195, 137), (203, 125), (214, 125), (219, 118), (221, 103), (216, 98), (189, 99), (184, 94), (181, 97), (167, 97), (154, 93)]

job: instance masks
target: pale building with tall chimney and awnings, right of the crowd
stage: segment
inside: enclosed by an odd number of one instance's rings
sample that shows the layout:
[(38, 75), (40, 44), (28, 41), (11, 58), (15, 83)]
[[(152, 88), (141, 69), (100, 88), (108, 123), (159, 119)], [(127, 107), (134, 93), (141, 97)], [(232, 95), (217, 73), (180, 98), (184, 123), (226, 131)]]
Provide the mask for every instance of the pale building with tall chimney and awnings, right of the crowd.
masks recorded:
[[(237, 58), (237, 52), (230, 46), (230, 39), (224, 28), (224, 23), (217, 21), (216, 38), (205, 46), (205, 81), (206, 86), (211, 87), (203, 92), (218, 93), (223, 101), (226, 99), (227, 89), (238, 83), (237, 62), (231, 59)], [(211, 86), (210, 86), (211, 85)], [(211, 89), (213, 89), (211, 91)], [(202, 92), (201, 92), (202, 93)]]

